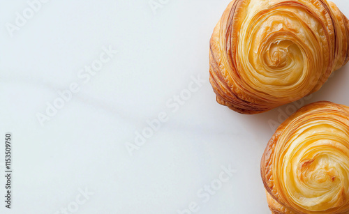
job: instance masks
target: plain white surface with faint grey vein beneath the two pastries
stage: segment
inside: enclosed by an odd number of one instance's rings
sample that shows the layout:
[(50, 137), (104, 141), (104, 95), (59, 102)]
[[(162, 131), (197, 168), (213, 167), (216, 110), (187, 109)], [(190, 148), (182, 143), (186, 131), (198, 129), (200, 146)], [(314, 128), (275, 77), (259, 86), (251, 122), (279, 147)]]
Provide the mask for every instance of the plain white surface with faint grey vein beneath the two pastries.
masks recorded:
[[(163, 1), (165, 2), (165, 1)], [(349, 1), (334, 1), (349, 16)], [(0, 1), (0, 213), (75, 212), (80, 190), (94, 194), (75, 213), (270, 213), (260, 158), (295, 106), (349, 105), (349, 67), (300, 104), (242, 115), (216, 103), (209, 82), (174, 111), (166, 105), (192, 76), (209, 78), (209, 38), (226, 0), (49, 1), (13, 36), (6, 23), (27, 1)], [(103, 52), (117, 54), (84, 84), (77, 75)], [(40, 125), (57, 91), (80, 92)], [(172, 112), (173, 111), (173, 112)], [(160, 112), (168, 121), (129, 155), (126, 143)], [(272, 123), (274, 124), (274, 123)], [(4, 135), (13, 132), (13, 208), (5, 203)], [(2, 136), (2, 137), (1, 137)], [(236, 170), (204, 201), (198, 192), (221, 167)], [(69, 211), (70, 208), (70, 211)], [(73, 210), (72, 210), (73, 208)]]

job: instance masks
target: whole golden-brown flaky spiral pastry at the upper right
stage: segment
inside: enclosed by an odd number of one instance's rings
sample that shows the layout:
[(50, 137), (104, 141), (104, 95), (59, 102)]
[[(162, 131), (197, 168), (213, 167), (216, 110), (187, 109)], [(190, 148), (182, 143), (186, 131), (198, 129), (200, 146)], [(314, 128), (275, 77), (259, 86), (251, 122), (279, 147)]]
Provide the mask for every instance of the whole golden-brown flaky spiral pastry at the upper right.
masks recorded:
[(217, 102), (257, 114), (318, 91), (349, 59), (349, 21), (326, 0), (234, 0), (210, 40)]

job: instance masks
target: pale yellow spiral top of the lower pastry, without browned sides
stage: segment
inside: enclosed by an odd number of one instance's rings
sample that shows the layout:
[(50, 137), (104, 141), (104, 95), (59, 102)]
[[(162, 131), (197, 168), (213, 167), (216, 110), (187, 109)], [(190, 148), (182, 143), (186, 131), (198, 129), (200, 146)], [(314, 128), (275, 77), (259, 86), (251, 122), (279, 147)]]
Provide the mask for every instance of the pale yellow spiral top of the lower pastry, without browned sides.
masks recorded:
[[(327, 114), (327, 112), (326, 112)], [(306, 211), (341, 208), (349, 195), (349, 130), (329, 116), (308, 120), (297, 128), (280, 151), (279, 178), (292, 207)]]

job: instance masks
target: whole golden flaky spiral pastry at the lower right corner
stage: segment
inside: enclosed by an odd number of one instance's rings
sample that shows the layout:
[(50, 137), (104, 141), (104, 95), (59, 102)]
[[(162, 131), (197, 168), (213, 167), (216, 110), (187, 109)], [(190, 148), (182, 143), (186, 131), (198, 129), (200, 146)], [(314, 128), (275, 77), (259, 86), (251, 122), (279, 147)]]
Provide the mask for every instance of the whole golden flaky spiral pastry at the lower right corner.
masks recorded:
[(349, 107), (315, 102), (283, 122), (261, 162), (273, 213), (349, 213)]

